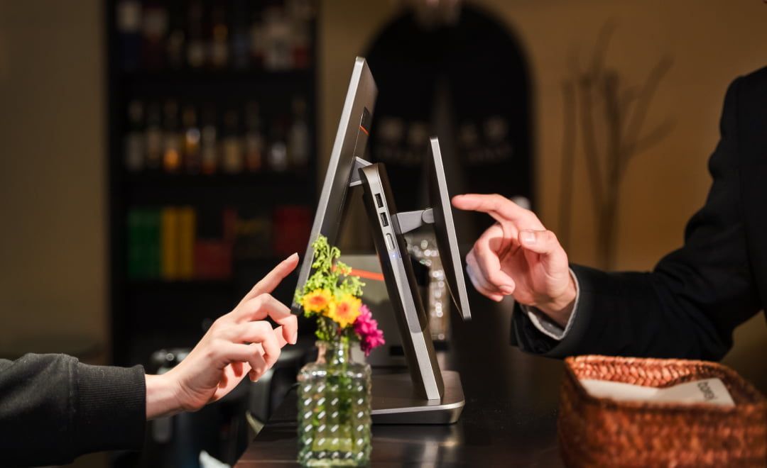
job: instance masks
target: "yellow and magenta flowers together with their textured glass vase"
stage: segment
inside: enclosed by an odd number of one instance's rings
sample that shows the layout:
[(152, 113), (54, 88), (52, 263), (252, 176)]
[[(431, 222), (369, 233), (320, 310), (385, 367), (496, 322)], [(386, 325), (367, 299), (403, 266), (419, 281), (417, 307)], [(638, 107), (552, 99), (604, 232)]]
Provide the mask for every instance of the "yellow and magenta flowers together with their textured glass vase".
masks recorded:
[(384, 344), (362, 303), (364, 283), (338, 261), (324, 236), (314, 244), (314, 273), (297, 291), (304, 316), (317, 319), (318, 359), (298, 375), (298, 461), (308, 466), (360, 466), (370, 460), (370, 366), (351, 360), (351, 344)]

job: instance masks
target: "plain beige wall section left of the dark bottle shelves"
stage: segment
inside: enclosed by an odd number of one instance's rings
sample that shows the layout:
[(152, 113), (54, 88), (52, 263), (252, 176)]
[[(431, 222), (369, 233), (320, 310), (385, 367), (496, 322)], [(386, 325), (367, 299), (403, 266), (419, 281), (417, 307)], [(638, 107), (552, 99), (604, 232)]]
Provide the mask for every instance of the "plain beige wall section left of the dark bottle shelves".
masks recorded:
[(107, 335), (100, 5), (0, 0), (0, 345)]

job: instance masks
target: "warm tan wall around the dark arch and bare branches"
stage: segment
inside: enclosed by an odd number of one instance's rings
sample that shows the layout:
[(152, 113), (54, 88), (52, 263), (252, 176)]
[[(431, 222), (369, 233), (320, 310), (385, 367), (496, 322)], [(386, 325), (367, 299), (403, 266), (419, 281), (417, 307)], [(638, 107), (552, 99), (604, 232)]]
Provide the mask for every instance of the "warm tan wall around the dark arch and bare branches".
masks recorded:
[[(661, 83), (648, 123), (673, 119), (673, 132), (637, 156), (624, 182), (618, 228), (619, 269), (647, 270), (680, 246), (683, 227), (703, 204), (710, 178), (706, 160), (716, 146), (726, 87), (740, 74), (767, 64), (767, 5), (695, 0), (476, 0), (517, 34), (535, 83), (538, 214), (557, 231), (561, 165), (561, 80), (571, 51), (591, 51), (608, 19), (617, 31), (608, 63), (631, 83), (643, 83), (663, 57), (673, 67)], [(333, 0), (321, 8), (320, 148), (330, 154), (354, 55), (400, 8), (401, 2)], [(576, 171), (571, 260), (596, 261), (592, 213), (582, 165)], [(756, 317), (736, 334), (732, 355), (765, 352), (765, 324)], [(763, 369), (763, 366), (760, 366)], [(742, 371), (749, 373), (748, 370)]]

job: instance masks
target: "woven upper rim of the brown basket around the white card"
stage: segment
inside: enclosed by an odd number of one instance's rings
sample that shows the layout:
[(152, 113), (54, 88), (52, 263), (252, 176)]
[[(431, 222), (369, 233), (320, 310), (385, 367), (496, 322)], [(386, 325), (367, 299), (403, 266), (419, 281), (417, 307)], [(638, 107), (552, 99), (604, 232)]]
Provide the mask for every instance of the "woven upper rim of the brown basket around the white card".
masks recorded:
[[(717, 371), (723, 371), (728, 378), (732, 380), (736, 385), (741, 385), (747, 391), (755, 394), (758, 401), (740, 403), (732, 407), (726, 407), (717, 404), (709, 403), (673, 403), (673, 402), (657, 402), (657, 401), (622, 401), (615, 400), (609, 397), (595, 397), (588, 393), (586, 388), (581, 385), (581, 379), (575, 374), (573, 366), (578, 362), (589, 363), (609, 363), (609, 364), (651, 364), (651, 365), (685, 365), (685, 366), (703, 366), (705, 368), (716, 369)], [(642, 412), (663, 412), (669, 414), (670, 412), (683, 412), (688, 413), (690, 411), (696, 412), (708, 412), (712, 414), (739, 414), (739, 413), (751, 413), (752, 411), (767, 411), (767, 399), (765, 396), (756, 389), (749, 381), (742, 378), (736, 371), (727, 367), (726, 365), (719, 364), (718, 362), (689, 360), (689, 359), (673, 359), (673, 358), (633, 358), (623, 356), (607, 356), (607, 355), (580, 355), (570, 356), (565, 358), (565, 378), (569, 378), (573, 383), (575, 391), (578, 393), (578, 398), (581, 398), (585, 404), (596, 405), (608, 409), (620, 409), (624, 411), (642, 411)], [(596, 379), (598, 380), (598, 379)], [(647, 385), (650, 386), (650, 385)]]

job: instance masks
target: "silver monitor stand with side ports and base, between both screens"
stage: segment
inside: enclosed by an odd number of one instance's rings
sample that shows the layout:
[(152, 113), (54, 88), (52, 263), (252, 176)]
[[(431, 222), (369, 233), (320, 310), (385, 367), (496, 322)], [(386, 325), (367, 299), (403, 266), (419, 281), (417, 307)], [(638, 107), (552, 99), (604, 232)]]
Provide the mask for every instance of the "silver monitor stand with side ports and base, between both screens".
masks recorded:
[[(359, 178), (353, 175), (350, 185), (364, 187), (370, 229), (410, 370), (409, 374), (373, 376), (373, 424), (453, 424), (465, 404), (463, 388), (456, 371), (442, 371), (437, 364), (428, 318), (404, 240), (407, 232), (434, 224), (434, 211), (427, 208), (396, 213), (384, 165), (358, 159), (354, 170), (359, 172)], [(386, 214), (391, 222), (380, 223), (381, 214)], [(395, 244), (391, 243), (392, 237)]]

